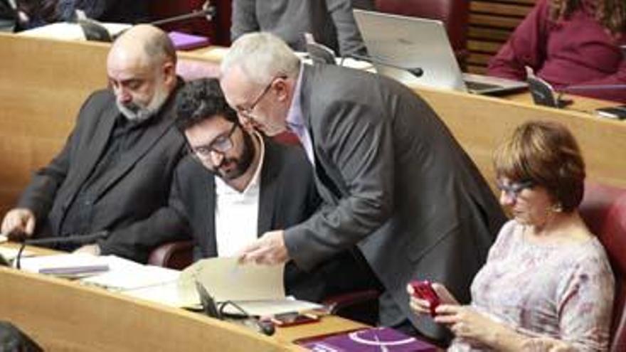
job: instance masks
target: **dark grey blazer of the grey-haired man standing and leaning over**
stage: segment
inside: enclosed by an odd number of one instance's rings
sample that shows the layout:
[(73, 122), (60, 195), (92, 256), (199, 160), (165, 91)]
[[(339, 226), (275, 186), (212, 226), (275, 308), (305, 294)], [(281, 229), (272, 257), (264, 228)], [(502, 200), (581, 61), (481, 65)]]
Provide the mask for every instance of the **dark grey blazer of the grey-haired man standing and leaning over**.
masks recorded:
[(292, 259), (306, 269), (358, 245), (402, 310), (381, 311), (381, 322), (409, 318), (441, 334), (410, 313), (405, 286), (431, 279), (468, 302), (504, 223), (497, 199), (435, 112), (400, 83), (304, 65), (300, 98), (326, 207), (287, 229)]

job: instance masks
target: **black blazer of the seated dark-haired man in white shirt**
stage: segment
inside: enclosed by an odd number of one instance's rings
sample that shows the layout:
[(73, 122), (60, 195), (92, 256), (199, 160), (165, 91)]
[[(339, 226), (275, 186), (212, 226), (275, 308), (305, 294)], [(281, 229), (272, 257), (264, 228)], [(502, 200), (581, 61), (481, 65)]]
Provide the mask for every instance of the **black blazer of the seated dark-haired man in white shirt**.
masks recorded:
[[(302, 148), (265, 139), (264, 158), (259, 197), (259, 235), (300, 223), (309, 218), (319, 205), (311, 165)], [(171, 190), (171, 209), (189, 220), (191, 234), (196, 242), (195, 260), (216, 257), (213, 173), (187, 157), (176, 169)], [(346, 275), (359, 272), (355, 269), (356, 265), (354, 257), (346, 251), (334, 255), (321, 265), (308, 268), (308, 272), (288, 262), (285, 266), (285, 289), (288, 294), (299, 299), (320, 302), (331, 294), (361, 288), (345, 283)]]

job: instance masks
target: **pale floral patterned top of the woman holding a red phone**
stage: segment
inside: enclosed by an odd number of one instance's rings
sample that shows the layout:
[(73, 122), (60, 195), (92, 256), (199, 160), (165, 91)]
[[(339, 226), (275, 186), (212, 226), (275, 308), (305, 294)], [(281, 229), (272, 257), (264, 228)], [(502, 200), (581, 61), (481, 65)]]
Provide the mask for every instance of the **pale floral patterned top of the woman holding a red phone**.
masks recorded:
[[(472, 306), (520, 334), (607, 351), (614, 277), (597, 238), (537, 244), (506, 223), (472, 282)], [(448, 351), (489, 351), (456, 338)]]

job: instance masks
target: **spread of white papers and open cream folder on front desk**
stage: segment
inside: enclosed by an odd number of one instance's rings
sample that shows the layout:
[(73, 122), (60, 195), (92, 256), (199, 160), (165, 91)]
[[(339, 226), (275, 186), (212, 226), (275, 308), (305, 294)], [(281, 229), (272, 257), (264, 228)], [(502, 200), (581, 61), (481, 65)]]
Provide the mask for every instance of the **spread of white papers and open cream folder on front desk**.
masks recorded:
[[(246, 314), (268, 316), (322, 306), (285, 297), (283, 265), (241, 265), (236, 258), (200, 260), (183, 272), (142, 265), (115, 255), (46, 255), (21, 260), (23, 270), (80, 277), (80, 282), (169, 306), (198, 308), (196, 282), (220, 305), (235, 302)], [(233, 306), (224, 312), (241, 314)]]

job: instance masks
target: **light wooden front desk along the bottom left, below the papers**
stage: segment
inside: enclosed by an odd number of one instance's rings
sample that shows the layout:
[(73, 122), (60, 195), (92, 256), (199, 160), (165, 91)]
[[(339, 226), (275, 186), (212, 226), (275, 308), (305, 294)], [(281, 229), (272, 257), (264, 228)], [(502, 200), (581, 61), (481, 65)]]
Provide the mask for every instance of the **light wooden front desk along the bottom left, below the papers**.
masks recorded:
[(46, 351), (298, 351), (292, 344), (297, 338), (366, 327), (324, 316), (319, 323), (278, 328), (267, 337), (184, 309), (6, 267), (0, 267), (0, 292), (1, 319), (16, 324)]

